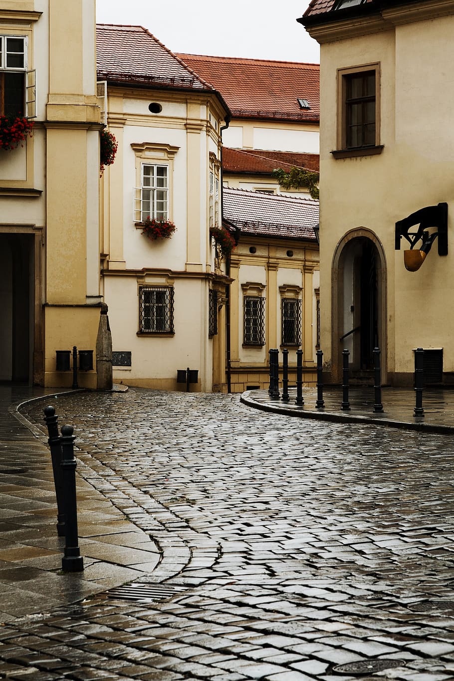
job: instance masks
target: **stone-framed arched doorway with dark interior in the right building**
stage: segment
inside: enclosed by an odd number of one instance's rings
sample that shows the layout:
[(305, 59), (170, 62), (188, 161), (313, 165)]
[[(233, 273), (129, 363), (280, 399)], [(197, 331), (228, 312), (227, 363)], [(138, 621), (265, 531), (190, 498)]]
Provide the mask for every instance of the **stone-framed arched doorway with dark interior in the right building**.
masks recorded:
[(353, 230), (338, 244), (333, 283), (334, 380), (342, 380), (342, 350), (347, 349), (352, 377), (372, 381), (372, 351), (379, 347), (382, 381), (385, 381), (385, 255), (380, 242), (368, 229)]

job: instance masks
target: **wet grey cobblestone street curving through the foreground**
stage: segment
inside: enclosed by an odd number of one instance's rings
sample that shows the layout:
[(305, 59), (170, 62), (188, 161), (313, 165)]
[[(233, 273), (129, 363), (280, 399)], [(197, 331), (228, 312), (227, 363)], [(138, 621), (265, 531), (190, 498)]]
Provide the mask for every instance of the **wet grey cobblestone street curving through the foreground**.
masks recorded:
[(5, 622), (0, 678), (454, 678), (451, 436), (216, 394), (79, 393), (57, 411), (80, 475), (162, 552), (140, 582), (180, 591)]

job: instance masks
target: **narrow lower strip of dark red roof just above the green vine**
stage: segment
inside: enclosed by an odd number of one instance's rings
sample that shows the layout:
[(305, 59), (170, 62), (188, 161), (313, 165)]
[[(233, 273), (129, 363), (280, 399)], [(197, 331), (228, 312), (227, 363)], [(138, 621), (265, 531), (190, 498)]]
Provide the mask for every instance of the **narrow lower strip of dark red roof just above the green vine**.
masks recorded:
[(319, 172), (318, 154), (289, 151), (261, 151), (258, 149), (231, 149), (223, 146), (224, 172), (270, 175), (276, 168), (290, 170), (294, 166)]

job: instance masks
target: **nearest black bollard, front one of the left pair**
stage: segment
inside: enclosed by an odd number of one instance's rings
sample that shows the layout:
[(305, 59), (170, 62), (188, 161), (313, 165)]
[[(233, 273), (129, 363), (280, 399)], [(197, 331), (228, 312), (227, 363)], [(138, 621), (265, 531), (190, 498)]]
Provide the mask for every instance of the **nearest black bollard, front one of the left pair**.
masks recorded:
[(61, 569), (65, 572), (82, 572), (84, 559), (79, 550), (76, 498), (76, 460), (74, 459), (74, 428), (63, 426), (61, 429), (61, 450), (63, 459), (63, 490), (65, 493), (65, 556), (61, 559)]

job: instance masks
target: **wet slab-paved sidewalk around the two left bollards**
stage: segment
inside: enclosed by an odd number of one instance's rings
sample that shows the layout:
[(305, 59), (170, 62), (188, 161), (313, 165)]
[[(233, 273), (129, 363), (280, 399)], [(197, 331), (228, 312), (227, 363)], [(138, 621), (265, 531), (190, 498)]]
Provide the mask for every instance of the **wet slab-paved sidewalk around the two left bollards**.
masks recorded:
[[(43, 409), (48, 402), (56, 405), (59, 392), (0, 387), (0, 622), (75, 603), (135, 580), (152, 571), (160, 559), (150, 537), (79, 475), (78, 530), (84, 571), (62, 573), (65, 539), (56, 533), (47, 438), (17, 413), (20, 402), (45, 394), (48, 401), (42, 401)], [(16, 405), (10, 407), (11, 401)]]

